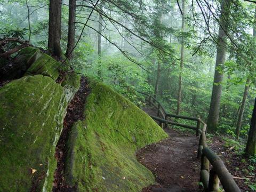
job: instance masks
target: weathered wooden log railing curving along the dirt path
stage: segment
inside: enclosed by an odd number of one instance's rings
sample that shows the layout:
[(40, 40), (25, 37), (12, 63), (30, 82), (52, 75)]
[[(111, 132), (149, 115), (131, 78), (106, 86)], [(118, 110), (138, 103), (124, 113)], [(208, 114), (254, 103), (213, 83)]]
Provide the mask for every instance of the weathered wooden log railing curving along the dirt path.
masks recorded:
[[(157, 116), (151, 116), (155, 121), (158, 121), (162, 127), (167, 127), (168, 124), (185, 127), (187, 129), (195, 130), (196, 136), (199, 136), (199, 145), (197, 151), (197, 158), (201, 158), (201, 171), (200, 181), (203, 183), (205, 191), (218, 191), (220, 182), (222, 187), (227, 192), (241, 192), (236, 182), (232, 178), (232, 175), (228, 172), (226, 166), (206, 144), (206, 131), (207, 125), (200, 118), (186, 117), (180, 115), (169, 114), (166, 112), (162, 104), (152, 95), (137, 91), (143, 95), (146, 95), (146, 101), (149, 106), (154, 106), (157, 109)], [(187, 119), (190, 121), (196, 121), (196, 126), (186, 125), (171, 121), (168, 117), (174, 117), (175, 119)], [(212, 168), (210, 170), (210, 164)]]

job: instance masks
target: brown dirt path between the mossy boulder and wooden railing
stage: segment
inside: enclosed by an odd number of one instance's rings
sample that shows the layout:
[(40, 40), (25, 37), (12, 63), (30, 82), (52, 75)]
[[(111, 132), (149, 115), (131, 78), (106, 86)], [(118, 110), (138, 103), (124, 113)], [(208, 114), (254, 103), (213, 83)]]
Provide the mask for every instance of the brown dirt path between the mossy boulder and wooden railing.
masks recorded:
[(172, 129), (165, 132), (169, 138), (146, 146), (137, 153), (138, 161), (153, 172), (158, 183), (142, 191), (201, 191), (198, 187), (198, 138)]

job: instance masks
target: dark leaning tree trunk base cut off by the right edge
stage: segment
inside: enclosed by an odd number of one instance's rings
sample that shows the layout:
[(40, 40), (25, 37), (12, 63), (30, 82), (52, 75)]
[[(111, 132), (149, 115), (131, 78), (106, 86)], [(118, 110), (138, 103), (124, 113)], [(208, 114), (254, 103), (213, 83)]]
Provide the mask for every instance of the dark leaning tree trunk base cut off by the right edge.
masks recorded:
[(256, 153), (256, 98), (254, 102), (254, 108), (251, 118), (251, 126), (248, 133), (248, 139), (245, 148), (245, 154), (247, 156), (254, 155)]

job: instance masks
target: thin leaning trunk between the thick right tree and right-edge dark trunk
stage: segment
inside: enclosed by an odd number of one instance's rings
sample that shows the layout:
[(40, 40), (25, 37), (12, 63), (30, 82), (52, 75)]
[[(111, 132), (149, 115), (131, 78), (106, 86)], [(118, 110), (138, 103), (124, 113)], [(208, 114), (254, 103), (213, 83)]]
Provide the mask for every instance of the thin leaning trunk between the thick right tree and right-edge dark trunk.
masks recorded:
[(236, 138), (239, 138), (240, 135), (240, 129), (241, 129), (241, 125), (242, 125), (242, 119), (244, 116), (244, 106), (245, 106), (245, 101), (247, 98), (247, 94), (250, 88), (250, 79), (247, 78), (246, 83), (245, 83), (245, 87), (244, 87), (244, 96), (243, 96), (243, 100), (241, 102), (241, 107), (240, 107), (240, 111), (239, 111), (239, 115), (238, 115), (238, 121), (237, 121), (237, 125), (236, 125)]

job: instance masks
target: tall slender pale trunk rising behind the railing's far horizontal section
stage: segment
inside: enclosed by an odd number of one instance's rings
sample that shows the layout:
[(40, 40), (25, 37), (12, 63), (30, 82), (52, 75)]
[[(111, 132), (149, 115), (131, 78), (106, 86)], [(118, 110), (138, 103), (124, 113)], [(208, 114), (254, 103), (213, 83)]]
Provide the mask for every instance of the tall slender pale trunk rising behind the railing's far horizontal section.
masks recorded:
[[(185, 30), (185, 0), (182, 0), (182, 23), (181, 31)], [(181, 103), (181, 91), (182, 91), (182, 68), (184, 60), (184, 36), (181, 36), (181, 49), (180, 49), (180, 75), (179, 75), (179, 90), (178, 90), (178, 99), (177, 99), (177, 111), (176, 114), (180, 114), (180, 103)]]

